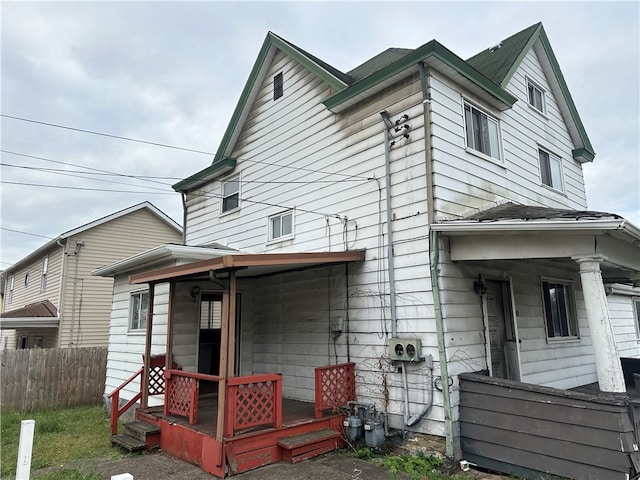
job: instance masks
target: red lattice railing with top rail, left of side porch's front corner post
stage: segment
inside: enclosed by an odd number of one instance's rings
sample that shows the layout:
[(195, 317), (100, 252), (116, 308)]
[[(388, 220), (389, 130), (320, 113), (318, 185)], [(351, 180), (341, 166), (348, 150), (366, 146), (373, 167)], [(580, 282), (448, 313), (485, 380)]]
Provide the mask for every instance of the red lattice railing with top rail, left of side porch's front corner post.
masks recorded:
[(198, 394), (200, 380), (220, 381), (217, 375), (166, 370), (166, 395), (164, 399), (165, 415), (180, 415), (189, 419), (189, 424), (198, 422)]

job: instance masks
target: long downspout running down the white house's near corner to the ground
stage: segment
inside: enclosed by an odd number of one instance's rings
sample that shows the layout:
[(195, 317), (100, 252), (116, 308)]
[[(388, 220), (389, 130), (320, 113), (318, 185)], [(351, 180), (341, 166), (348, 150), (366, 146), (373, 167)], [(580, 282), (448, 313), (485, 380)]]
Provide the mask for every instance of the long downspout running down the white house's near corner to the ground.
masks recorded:
[(438, 337), (438, 359), (440, 361), (440, 377), (442, 378), (442, 403), (444, 408), (445, 454), (453, 457), (453, 413), (451, 408), (451, 394), (449, 392), (449, 368), (444, 337), (444, 319), (442, 316), (442, 295), (438, 283), (438, 264), (440, 262), (440, 234), (431, 230), (435, 220), (435, 195), (433, 188), (433, 129), (431, 128), (431, 74), (423, 62), (418, 63), (420, 85), (422, 86), (422, 104), (424, 105), (425, 129), (425, 161), (427, 175), (427, 222), (429, 224), (429, 267), (431, 291), (433, 293), (433, 310)]

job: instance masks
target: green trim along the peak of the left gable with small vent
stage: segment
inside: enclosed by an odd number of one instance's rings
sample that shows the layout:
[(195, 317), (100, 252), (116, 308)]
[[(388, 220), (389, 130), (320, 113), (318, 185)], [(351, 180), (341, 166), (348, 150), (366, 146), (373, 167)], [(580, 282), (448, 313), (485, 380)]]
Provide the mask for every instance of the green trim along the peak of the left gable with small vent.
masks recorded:
[(264, 61), (266, 60), (269, 50), (272, 48), (278, 48), (282, 50), (284, 53), (293, 58), (296, 62), (300, 63), (303, 67), (310, 70), (312, 73), (320, 77), (323, 81), (325, 81), (331, 88), (334, 90), (342, 90), (347, 85), (340, 79), (336, 78), (332, 74), (330, 74), (327, 70), (318, 65), (318, 63), (314, 62), (307, 56), (305, 56), (300, 50), (294, 48), (291, 44), (285, 42), (283, 39), (278, 37), (272, 32), (267, 33), (267, 37), (262, 43), (262, 48), (260, 49), (260, 53), (258, 53), (258, 58), (253, 64), (253, 68), (251, 69), (251, 73), (249, 74), (249, 78), (247, 79), (247, 83), (245, 83), (244, 88), (242, 89), (242, 93), (240, 94), (240, 100), (238, 100), (238, 104), (236, 105), (235, 110), (233, 111), (233, 115), (231, 116), (231, 120), (227, 129), (225, 130), (224, 135), (222, 136), (222, 140), (220, 142), (220, 146), (216, 151), (216, 156), (213, 159), (215, 163), (217, 159), (223, 158), (226, 154), (227, 148), (229, 147), (229, 142), (231, 141), (231, 137), (235, 132), (235, 129), (238, 128), (238, 123), (242, 116), (242, 112), (247, 107), (247, 101), (251, 92), (256, 87), (255, 83), (258, 79), (258, 75), (262, 70)]

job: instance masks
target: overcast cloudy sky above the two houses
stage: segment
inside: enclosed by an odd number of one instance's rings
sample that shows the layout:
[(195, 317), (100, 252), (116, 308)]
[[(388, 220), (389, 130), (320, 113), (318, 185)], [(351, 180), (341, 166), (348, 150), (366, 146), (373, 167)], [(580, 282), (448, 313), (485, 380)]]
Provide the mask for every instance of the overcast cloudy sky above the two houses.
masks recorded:
[(48, 238), (141, 201), (181, 222), (170, 185), (210, 165), (269, 30), (348, 71), (388, 47), (434, 38), (468, 58), (542, 21), (597, 152), (584, 168), (589, 208), (640, 225), (638, 2), (0, 8), (0, 269)]

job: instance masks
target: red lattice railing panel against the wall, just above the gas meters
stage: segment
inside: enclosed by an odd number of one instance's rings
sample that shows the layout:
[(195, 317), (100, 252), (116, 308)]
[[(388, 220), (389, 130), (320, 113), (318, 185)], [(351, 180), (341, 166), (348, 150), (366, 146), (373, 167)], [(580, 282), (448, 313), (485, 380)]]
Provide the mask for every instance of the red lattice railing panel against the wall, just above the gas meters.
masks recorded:
[(340, 363), (317, 367), (315, 417), (327, 408), (343, 407), (356, 399), (356, 364)]

